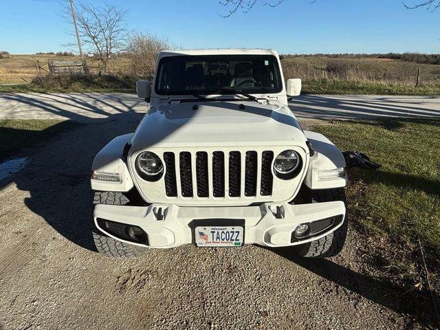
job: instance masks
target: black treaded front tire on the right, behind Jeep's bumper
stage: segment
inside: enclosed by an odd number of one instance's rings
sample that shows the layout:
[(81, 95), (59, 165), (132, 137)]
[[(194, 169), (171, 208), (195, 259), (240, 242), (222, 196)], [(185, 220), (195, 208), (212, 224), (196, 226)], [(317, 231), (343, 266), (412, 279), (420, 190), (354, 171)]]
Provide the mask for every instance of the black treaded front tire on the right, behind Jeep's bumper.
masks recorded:
[[(344, 188), (312, 191), (312, 202), (322, 203), (325, 201), (343, 201), (347, 204)], [(296, 253), (305, 258), (325, 258), (336, 256), (344, 247), (348, 228), (349, 221), (346, 215), (344, 223), (342, 223), (337, 230), (327, 234), (327, 236), (324, 236), (321, 239), (296, 245)]]

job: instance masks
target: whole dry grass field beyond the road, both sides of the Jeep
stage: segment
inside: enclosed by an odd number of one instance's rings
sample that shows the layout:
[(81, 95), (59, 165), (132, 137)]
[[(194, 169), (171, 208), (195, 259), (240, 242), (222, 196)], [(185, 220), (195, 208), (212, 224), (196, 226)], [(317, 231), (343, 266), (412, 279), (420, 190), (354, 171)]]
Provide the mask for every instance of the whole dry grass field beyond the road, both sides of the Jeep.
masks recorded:
[[(109, 63), (109, 74), (117, 79), (97, 78), (71, 80), (36, 80), (41, 67), (48, 69), (48, 60), (72, 60), (78, 56), (6, 55), (0, 58), (0, 84), (30, 83), (27, 85), (0, 85), (0, 91), (128, 91), (134, 92), (131, 62), (121, 56)], [(98, 63), (87, 59), (91, 73), (98, 73)], [(285, 78), (303, 79), (304, 94), (383, 94), (383, 95), (440, 95), (440, 65), (410, 63), (387, 58), (330, 58), (293, 57), (281, 61)], [(415, 87), (417, 69), (421, 69), (420, 83)], [(45, 74), (44, 70), (42, 71)], [(140, 78), (140, 77), (139, 77)], [(132, 87), (127, 88), (131, 84)]]

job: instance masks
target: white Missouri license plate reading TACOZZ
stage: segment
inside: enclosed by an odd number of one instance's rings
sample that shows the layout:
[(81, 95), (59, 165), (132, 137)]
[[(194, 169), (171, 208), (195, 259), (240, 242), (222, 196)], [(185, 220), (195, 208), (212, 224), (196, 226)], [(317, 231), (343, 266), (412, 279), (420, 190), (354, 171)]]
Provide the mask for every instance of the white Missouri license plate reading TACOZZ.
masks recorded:
[(241, 246), (243, 245), (243, 227), (196, 227), (195, 243), (197, 246)]

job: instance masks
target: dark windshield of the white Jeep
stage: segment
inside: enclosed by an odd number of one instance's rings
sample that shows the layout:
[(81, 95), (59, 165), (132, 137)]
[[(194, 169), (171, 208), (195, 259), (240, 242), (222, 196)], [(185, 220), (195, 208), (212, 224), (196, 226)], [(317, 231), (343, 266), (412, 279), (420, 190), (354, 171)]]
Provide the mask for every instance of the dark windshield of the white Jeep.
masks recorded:
[(272, 55), (167, 56), (155, 77), (159, 95), (267, 94), (283, 89)]

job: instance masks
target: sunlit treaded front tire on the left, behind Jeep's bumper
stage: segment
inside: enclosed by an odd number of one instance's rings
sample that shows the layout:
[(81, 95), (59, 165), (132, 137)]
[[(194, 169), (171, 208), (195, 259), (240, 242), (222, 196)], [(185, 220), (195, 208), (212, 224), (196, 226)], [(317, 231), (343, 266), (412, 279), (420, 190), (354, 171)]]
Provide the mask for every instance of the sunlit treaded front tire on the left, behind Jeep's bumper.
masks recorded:
[[(122, 192), (97, 191), (94, 204), (125, 205), (129, 199)], [(96, 230), (93, 232), (96, 250), (109, 258), (136, 258), (146, 251), (142, 246), (124, 243)]]

